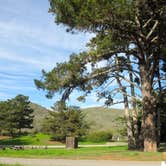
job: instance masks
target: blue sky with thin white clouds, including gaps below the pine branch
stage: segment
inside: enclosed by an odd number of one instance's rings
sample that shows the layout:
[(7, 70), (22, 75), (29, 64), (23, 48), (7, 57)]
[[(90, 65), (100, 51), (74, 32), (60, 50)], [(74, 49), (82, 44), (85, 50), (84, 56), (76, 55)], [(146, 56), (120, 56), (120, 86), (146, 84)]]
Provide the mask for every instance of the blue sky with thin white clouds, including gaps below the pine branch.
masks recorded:
[[(51, 107), (60, 96), (47, 99), (39, 91), (34, 79), (40, 79), (41, 70), (51, 70), (57, 62), (68, 60), (73, 52), (86, 49), (92, 35), (69, 34), (57, 26), (48, 13), (48, 0), (4, 0), (0, 5), (0, 100), (17, 94), (29, 96), (32, 102)], [(81, 107), (101, 106), (95, 92), (87, 102), (79, 103), (74, 92), (70, 104)]]

